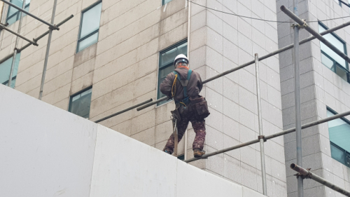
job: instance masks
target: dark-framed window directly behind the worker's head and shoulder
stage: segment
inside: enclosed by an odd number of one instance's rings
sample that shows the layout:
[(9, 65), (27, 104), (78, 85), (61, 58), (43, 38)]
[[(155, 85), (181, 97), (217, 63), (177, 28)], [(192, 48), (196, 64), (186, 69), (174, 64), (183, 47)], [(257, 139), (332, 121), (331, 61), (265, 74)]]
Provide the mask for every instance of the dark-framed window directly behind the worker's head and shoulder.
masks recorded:
[[(187, 55), (187, 41), (182, 41), (181, 43), (177, 43), (174, 46), (171, 46), (163, 51), (160, 52), (159, 57), (159, 72), (158, 72), (158, 96), (157, 98), (160, 99), (161, 97), (165, 97), (163, 93), (160, 92), (160, 83), (164, 81), (165, 77), (174, 71), (174, 59), (176, 55), (183, 54)], [(166, 102), (169, 102), (167, 100), (158, 102), (157, 106), (160, 104), (164, 104)]]

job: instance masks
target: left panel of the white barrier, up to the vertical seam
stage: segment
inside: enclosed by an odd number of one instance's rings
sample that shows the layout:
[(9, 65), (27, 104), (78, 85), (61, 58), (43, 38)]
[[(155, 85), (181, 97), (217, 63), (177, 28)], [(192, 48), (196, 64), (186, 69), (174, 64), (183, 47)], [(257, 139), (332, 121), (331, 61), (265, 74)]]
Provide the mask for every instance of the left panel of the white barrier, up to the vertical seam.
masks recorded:
[(97, 125), (0, 85), (1, 196), (89, 196)]

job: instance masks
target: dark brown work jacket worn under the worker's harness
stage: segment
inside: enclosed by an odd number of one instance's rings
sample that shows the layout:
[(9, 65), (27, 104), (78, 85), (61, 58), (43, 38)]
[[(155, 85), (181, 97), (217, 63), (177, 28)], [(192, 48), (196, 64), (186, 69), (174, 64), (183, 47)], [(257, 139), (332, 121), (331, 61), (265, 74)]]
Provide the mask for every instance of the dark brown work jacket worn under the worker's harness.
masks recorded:
[[(181, 76), (181, 80), (187, 79), (188, 69), (185, 67), (177, 67), (175, 69)], [(172, 86), (175, 79), (175, 74), (173, 72), (169, 73), (165, 80), (160, 84), (160, 91), (167, 95), (167, 97), (172, 97)], [(190, 81), (188, 81), (187, 85), (187, 95), (188, 97), (196, 98), (200, 95), (200, 91), (203, 88), (202, 79), (200, 78), (200, 74), (195, 71), (192, 71)], [(183, 87), (178, 79), (176, 79), (176, 94), (175, 100), (181, 101), (184, 99), (183, 97)]]

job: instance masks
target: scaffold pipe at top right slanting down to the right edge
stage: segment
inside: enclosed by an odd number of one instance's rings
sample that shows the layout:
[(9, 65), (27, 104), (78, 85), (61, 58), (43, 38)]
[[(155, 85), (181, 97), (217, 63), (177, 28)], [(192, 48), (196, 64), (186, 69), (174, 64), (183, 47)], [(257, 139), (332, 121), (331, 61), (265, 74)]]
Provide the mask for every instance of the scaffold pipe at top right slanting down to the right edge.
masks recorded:
[(295, 20), (295, 22), (297, 22), (300, 25), (300, 27), (302, 27), (305, 30), (307, 30), (307, 32), (309, 32), (310, 34), (315, 36), (316, 39), (318, 39), (322, 43), (324, 43), (325, 46), (328, 46), (330, 49), (332, 49), (335, 53), (337, 53), (340, 57), (342, 57), (346, 62), (350, 63), (350, 58), (347, 55), (342, 53), (342, 51), (340, 51), (338, 48), (333, 46), (332, 43), (330, 43), (325, 38), (323, 38), (323, 36), (321, 36), (321, 34), (318, 34), (318, 32), (316, 32), (314, 29), (309, 27), (309, 25), (307, 25), (307, 23), (304, 20), (302, 20), (301, 18), (297, 17), (297, 15), (295, 15), (294, 13), (289, 11), (288, 8), (286, 8), (285, 6), (281, 6), (281, 11), (283, 11), (283, 13), (286, 13), (286, 15), (288, 15), (291, 19)]

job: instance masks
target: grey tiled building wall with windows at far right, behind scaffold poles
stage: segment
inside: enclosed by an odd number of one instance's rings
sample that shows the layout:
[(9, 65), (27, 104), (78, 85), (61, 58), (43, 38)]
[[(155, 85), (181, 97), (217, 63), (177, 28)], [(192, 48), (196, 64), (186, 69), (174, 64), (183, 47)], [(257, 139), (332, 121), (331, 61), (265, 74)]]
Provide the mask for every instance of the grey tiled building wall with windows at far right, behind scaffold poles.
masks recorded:
[[(293, 10), (293, 1), (277, 1), (279, 6), (285, 5)], [(339, 6), (338, 1), (300, 1), (300, 18), (307, 21), (325, 20), (349, 16), (349, 8)], [(277, 18), (283, 21), (290, 21), (283, 12), (277, 13)], [(332, 28), (347, 22), (346, 18), (341, 20), (328, 20), (323, 24)], [(310, 27), (318, 32), (318, 22), (309, 22)], [(279, 48), (293, 43), (293, 29), (288, 23), (280, 23)], [(350, 29), (345, 27), (335, 32), (340, 38), (346, 41), (346, 48), (349, 48)], [(300, 39), (310, 34), (301, 29)], [(288, 50), (279, 55), (281, 68), (281, 95), (283, 108), (283, 128), (295, 127), (295, 104), (294, 104), (294, 71), (293, 71), (293, 50)], [(301, 118), (302, 123), (309, 123), (321, 118), (326, 118), (326, 107), (330, 107), (342, 113), (349, 111), (350, 104), (347, 102), (350, 95), (350, 84), (341, 79), (328, 67), (321, 63), (320, 41), (315, 39), (300, 46), (300, 93), (302, 102)], [(349, 119), (349, 117), (347, 117)], [(286, 172), (288, 196), (297, 196), (297, 180), (289, 169), (290, 163), (296, 162), (295, 133), (284, 137), (286, 153)], [(344, 189), (350, 189), (349, 168), (342, 163), (335, 161), (330, 155), (330, 141), (328, 134), (328, 123), (323, 123), (312, 128), (302, 130), (302, 165), (304, 168), (311, 168), (311, 171), (321, 177), (330, 180)], [(341, 194), (328, 189), (312, 180), (304, 180), (305, 196), (342, 196)]]

